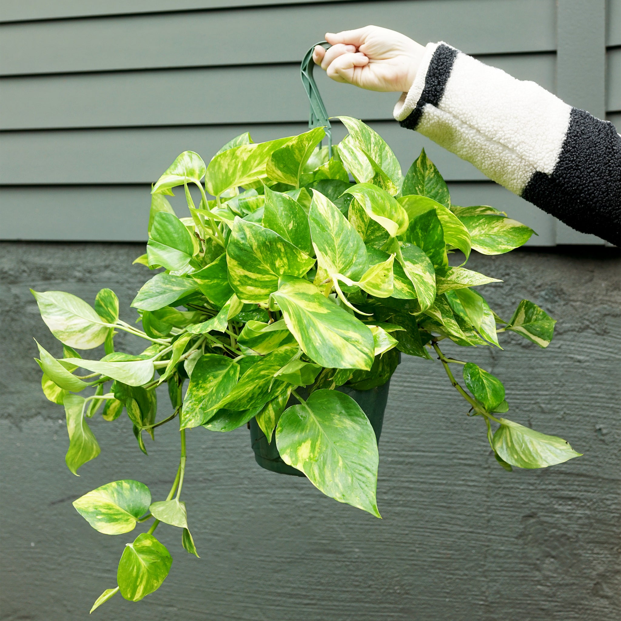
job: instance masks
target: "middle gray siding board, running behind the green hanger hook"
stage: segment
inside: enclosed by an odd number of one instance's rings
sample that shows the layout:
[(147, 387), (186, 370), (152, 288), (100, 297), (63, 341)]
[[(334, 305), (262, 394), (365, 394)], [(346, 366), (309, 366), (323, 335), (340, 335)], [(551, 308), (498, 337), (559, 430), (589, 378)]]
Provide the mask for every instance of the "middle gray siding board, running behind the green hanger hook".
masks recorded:
[[(555, 89), (553, 53), (482, 60)], [(396, 93), (317, 74), (330, 114), (392, 119)], [(297, 64), (3, 78), (0, 107), (3, 130), (299, 122), (309, 114)]]

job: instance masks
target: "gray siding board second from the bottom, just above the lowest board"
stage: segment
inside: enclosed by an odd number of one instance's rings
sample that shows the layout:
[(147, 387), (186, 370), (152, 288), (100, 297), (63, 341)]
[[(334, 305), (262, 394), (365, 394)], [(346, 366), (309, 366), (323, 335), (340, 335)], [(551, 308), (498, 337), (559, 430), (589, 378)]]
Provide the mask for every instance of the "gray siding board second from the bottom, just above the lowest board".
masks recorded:
[[(390, 121), (372, 122), (391, 146), (404, 172), (425, 148), (442, 175), (451, 181), (484, 180), (467, 161), (439, 147), (418, 132)], [(179, 153), (191, 150), (206, 161), (235, 135), (247, 130), (256, 142), (301, 134), (306, 124), (215, 125), (211, 127), (153, 127), (55, 132), (7, 132), (0, 150), (0, 183), (127, 184), (153, 183)], [(345, 129), (335, 123), (335, 142)], [(62, 153), (62, 157), (58, 157)], [(29, 161), (24, 167), (23, 162)], [(32, 170), (37, 178), (32, 178)]]

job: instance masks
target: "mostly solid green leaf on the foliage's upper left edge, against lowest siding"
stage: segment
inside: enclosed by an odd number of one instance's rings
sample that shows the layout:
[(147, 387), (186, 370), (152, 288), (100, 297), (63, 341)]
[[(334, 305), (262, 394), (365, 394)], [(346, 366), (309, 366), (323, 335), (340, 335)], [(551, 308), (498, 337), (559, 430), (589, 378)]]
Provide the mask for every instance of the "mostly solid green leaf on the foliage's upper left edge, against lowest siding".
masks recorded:
[(150, 266), (161, 265), (166, 270), (183, 270), (194, 254), (194, 243), (186, 226), (175, 214), (160, 211), (155, 214), (147, 243)]

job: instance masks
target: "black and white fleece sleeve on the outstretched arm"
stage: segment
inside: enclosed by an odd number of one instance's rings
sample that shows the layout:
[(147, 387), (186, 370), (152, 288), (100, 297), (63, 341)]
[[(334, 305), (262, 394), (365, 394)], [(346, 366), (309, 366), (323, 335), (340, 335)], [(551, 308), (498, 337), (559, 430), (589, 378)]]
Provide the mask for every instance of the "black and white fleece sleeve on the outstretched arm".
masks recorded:
[(619, 245), (621, 136), (612, 123), (442, 42), (427, 45), (394, 117), (570, 227)]

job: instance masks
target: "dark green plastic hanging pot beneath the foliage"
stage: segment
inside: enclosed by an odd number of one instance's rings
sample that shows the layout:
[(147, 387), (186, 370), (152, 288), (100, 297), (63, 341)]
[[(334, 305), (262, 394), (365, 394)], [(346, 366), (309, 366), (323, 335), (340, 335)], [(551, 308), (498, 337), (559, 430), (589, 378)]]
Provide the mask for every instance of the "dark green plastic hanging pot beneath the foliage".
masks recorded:
[[(390, 380), (382, 386), (376, 386), (370, 390), (355, 390), (349, 386), (340, 386), (337, 388), (340, 392), (348, 394), (365, 412), (375, 437), (379, 443), (379, 435), (382, 432), (382, 424), (384, 422), (384, 410), (386, 409), (386, 401), (388, 401), (388, 389), (390, 386)], [(302, 396), (304, 398), (304, 396)], [(287, 407), (293, 406), (297, 403), (295, 397), (291, 397), (287, 403)], [(291, 474), (292, 476), (306, 476), (297, 468), (293, 468), (284, 463), (276, 448), (276, 433), (272, 435), (272, 441), (268, 443), (268, 439), (265, 437), (265, 433), (261, 431), (261, 428), (256, 423), (256, 419), (250, 420), (250, 442), (252, 443), (253, 451), (255, 451), (255, 460), (261, 468), (271, 470), (272, 472), (278, 472), (280, 474)]]

